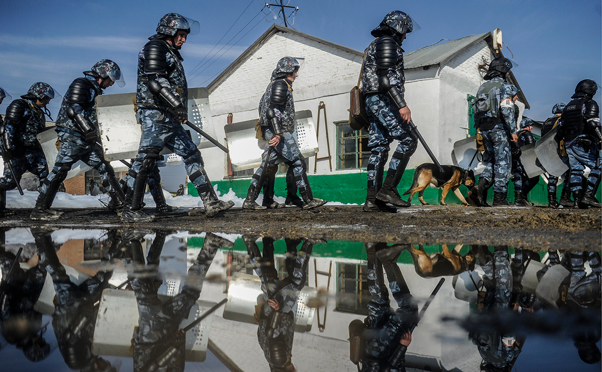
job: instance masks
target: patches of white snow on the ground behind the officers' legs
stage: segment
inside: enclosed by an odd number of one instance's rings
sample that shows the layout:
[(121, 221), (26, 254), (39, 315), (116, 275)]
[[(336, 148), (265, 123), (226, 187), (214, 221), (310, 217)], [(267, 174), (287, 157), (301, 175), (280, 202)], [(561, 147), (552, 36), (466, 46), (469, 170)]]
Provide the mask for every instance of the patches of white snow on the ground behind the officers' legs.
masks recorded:
[[(223, 194), (217, 190), (217, 185), (213, 186), (216, 191), (217, 197), (220, 200), (234, 201), (235, 207), (243, 206), (243, 198), (237, 197), (236, 193), (230, 189), (226, 194)], [(6, 193), (6, 204), (8, 208), (33, 208), (36, 205), (36, 200), (39, 195), (37, 191), (23, 190), (23, 196), (19, 195), (17, 190), (7, 191)], [(196, 208), (202, 207), (203, 202), (199, 197), (193, 197), (192, 195), (182, 195), (180, 197), (173, 197), (170, 192), (163, 190), (163, 195), (167, 204), (175, 207), (187, 207)], [(245, 195), (246, 196), (246, 195)], [(284, 197), (275, 197), (274, 200), (278, 203), (284, 203), (286, 200)], [(57, 196), (54, 198), (52, 207), (54, 208), (103, 208), (109, 201), (107, 194), (100, 194), (97, 196), (92, 195), (71, 195), (66, 192), (57, 192)], [(259, 194), (257, 203), (261, 204), (263, 201), (263, 194)], [(147, 193), (144, 195), (144, 203), (147, 207), (155, 207), (155, 201), (152, 199), (151, 194)], [(339, 201), (329, 201), (326, 203), (327, 206), (357, 206), (358, 204), (344, 204)]]

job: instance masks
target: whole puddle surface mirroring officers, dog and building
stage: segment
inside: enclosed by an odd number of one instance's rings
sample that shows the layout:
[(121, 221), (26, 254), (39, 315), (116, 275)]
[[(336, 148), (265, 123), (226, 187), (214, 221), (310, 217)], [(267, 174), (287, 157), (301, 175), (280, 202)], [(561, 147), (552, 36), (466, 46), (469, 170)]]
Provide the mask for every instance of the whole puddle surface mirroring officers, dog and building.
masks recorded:
[(0, 244), (7, 370), (600, 370), (600, 252), (46, 227)]

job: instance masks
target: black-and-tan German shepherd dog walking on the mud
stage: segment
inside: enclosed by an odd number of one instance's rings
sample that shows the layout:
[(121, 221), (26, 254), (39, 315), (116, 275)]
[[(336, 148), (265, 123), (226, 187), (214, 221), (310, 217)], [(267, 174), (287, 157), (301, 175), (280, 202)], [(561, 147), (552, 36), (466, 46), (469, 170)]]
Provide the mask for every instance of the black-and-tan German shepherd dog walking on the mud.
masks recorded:
[(414, 194), (418, 193), (418, 200), (422, 204), (429, 204), (424, 201), (422, 194), (424, 189), (429, 187), (429, 184), (433, 188), (443, 189), (441, 193), (441, 205), (445, 206), (445, 197), (447, 192), (452, 189), (456, 197), (464, 204), (468, 206), (467, 201), (462, 196), (462, 193), (458, 189), (461, 184), (464, 184), (468, 188), (474, 186), (474, 172), (472, 169), (467, 171), (459, 166), (455, 165), (442, 165), (443, 173), (439, 171), (439, 168), (433, 163), (424, 163), (416, 168), (414, 172), (414, 182), (412, 182), (411, 188), (404, 192), (403, 195), (410, 194), (408, 201), (412, 201)]

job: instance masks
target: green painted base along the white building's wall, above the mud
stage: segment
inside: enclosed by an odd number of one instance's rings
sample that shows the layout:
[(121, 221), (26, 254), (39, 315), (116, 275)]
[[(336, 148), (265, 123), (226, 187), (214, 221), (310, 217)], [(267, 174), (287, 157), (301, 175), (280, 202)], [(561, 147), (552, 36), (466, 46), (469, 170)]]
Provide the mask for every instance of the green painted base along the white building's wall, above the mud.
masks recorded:
[[(311, 184), (314, 197), (325, 199), (328, 201), (339, 201), (344, 204), (355, 203), (363, 204), (366, 200), (366, 184), (367, 175), (365, 171), (351, 174), (326, 174), (326, 175), (308, 175), (309, 183)], [(414, 179), (414, 169), (408, 169), (403, 174), (402, 181), (399, 183), (398, 190), (400, 194), (403, 194), (412, 185)], [(477, 178), (478, 179), (478, 178)], [(220, 180), (214, 182), (217, 184), (217, 189), (222, 194), (226, 194), (232, 189), (237, 197), (244, 198), (247, 195), (247, 189), (249, 189), (250, 178), (239, 178), (232, 181)], [(286, 196), (286, 181), (285, 176), (276, 176), (276, 196)], [(462, 195), (466, 197), (468, 194), (468, 188), (460, 186)], [(557, 199), (560, 198), (560, 192), (562, 187), (557, 188)], [(439, 204), (441, 199), (441, 189), (427, 188), (424, 191), (424, 201), (429, 204)], [(198, 196), (199, 193), (194, 188), (194, 184), (188, 183), (188, 194)], [(597, 198), (600, 200), (602, 194), (602, 188), (598, 189)], [(514, 183), (512, 180), (508, 181), (508, 200), (514, 201)], [(407, 195), (403, 197), (407, 200)], [(489, 189), (488, 201), (493, 201), (493, 188)], [(535, 188), (529, 193), (529, 201), (538, 206), (548, 205), (548, 192), (547, 184), (540, 178), (539, 183), (536, 184)], [(418, 201), (418, 195), (414, 195), (412, 204), (420, 204)], [(456, 195), (453, 192), (448, 192), (445, 198), (445, 204), (461, 204)], [(491, 203), (489, 203), (491, 204)]]

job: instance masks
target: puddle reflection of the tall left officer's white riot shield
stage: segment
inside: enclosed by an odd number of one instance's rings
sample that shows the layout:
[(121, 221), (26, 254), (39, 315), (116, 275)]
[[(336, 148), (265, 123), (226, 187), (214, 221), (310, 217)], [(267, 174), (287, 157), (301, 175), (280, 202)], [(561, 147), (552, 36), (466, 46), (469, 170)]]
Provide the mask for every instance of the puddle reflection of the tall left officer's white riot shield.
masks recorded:
[[(171, 298), (159, 295), (161, 301)], [(216, 305), (215, 302), (197, 300), (188, 314), (188, 319), (185, 319), (179, 328), (189, 325), (214, 305)], [(202, 322), (186, 332), (187, 361), (205, 361), (209, 331), (211, 330), (214, 314), (209, 314)], [(131, 357), (132, 334), (134, 334), (134, 328), (137, 326), (138, 306), (134, 291), (105, 289), (102, 291), (101, 303), (96, 317), (92, 353), (94, 355)]]

